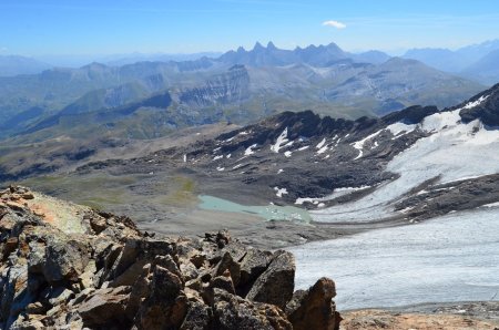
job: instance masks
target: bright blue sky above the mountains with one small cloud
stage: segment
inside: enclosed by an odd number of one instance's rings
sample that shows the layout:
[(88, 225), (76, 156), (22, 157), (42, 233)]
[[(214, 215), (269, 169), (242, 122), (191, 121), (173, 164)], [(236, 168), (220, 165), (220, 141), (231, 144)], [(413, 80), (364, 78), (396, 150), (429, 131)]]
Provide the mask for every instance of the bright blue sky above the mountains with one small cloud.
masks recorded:
[(269, 40), (397, 53), (497, 38), (497, 0), (0, 0), (2, 54), (192, 53)]

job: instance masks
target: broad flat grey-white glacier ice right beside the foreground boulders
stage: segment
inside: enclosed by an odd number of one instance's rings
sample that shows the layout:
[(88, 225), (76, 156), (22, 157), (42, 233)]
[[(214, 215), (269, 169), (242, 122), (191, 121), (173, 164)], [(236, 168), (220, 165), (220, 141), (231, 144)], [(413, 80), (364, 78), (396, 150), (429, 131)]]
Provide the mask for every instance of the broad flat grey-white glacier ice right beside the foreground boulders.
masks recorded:
[(296, 287), (335, 280), (339, 310), (499, 300), (499, 207), (288, 248)]

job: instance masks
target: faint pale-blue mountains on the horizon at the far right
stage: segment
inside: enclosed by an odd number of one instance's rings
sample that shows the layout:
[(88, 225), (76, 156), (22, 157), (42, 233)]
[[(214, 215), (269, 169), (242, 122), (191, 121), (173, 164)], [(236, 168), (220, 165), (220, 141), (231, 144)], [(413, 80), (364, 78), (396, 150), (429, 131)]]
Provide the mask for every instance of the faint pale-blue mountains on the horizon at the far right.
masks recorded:
[(456, 51), (436, 48), (413, 49), (403, 58), (418, 60), (435, 69), (487, 85), (499, 81), (499, 40), (468, 45)]

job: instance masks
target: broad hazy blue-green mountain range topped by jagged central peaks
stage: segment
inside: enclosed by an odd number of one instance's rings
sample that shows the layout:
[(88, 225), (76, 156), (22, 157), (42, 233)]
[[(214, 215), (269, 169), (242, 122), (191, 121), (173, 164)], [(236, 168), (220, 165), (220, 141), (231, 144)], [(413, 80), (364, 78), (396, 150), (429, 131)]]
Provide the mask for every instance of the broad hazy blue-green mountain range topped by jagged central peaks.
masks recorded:
[(29, 142), (100, 132), (150, 138), (185, 126), (247, 124), (304, 109), (357, 118), (413, 104), (445, 107), (482, 89), (377, 51), (353, 54), (335, 43), (295, 50), (256, 43), (216, 59), (91, 63), (0, 78), (0, 137), (20, 134)]

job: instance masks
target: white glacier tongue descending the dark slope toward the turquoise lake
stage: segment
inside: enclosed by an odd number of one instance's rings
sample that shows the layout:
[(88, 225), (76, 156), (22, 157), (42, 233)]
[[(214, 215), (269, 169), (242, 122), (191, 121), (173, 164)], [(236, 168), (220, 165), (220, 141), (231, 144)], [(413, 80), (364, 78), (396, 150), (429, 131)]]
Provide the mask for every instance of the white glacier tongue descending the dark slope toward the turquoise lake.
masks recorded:
[(356, 202), (313, 212), (317, 221), (370, 221), (389, 216), (401, 195), (440, 176), (440, 183), (499, 172), (499, 130), (477, 120), (459, 121), (459, 111), (426, 117), (421, 128), (435, 131), (391, 159), (387, 171), (400, 175)]

